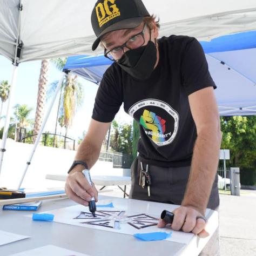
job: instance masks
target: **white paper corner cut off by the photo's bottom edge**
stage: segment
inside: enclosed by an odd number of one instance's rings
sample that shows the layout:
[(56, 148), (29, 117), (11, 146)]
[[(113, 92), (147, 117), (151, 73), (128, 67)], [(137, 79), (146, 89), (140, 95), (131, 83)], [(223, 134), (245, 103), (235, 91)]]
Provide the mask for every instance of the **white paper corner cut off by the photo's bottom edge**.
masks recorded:
[(62, 247), (57, 247), (54, 245), (46, 245), (42, 247), (38, 247), (29, 251), (24, 251), (24, 252), (19, 252), (15, 254), (11, 254), (10, 256), (49, 256), (49, 255), (54, 255), (54, 256), (89, 256), (87, 254), (67, 250)]

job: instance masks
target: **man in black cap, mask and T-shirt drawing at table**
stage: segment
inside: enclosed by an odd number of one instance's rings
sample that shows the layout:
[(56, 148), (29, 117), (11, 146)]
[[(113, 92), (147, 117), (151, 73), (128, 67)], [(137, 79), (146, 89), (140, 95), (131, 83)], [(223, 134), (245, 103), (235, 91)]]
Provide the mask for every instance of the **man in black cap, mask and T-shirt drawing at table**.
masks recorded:
[[(97, 200), (82, 175), (98, 159), (105, 134), (124, 103), (140, 124), (130, 198), (178, 204), (173, 230), (206, 237), (206, 207), (217, 209), (217, 166), (221, 142), (216, 87), (195, 38), (157, 39), (158, 22), (141, 0), (98, 0), (91, 22), (104, 55), (113, 64), (104, 73), (89, 130), (66, 181), (79, 204)], [(159, 227), (165, 226), (159, 221)], [(218, 237), (209, 255), (218, 255)]]

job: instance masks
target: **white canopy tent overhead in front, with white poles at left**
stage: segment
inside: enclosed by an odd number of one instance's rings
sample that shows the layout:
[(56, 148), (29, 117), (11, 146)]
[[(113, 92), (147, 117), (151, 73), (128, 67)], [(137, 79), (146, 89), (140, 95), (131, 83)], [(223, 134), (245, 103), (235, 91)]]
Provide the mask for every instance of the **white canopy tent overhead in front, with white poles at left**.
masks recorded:
[[(95, 0), (1, 0), (0, 55), (12, 61), (14, 72), (1, 145), (0, 173), (10, 123), (17, 65), (28, 60), (99, 53), (100, 48), (94, 53), (91, 51), (95, 35), (91, 28), (90, 16), (95, 2)], [(108, 3), (109, 0), (106, 2)], [(151, 14), (160, 17), (160, 36), (176, 33), (194, 36), (199, 40), (210, 40), (228, 33), (256, 29), (255, 0), (235, 2), (170, 0), (168, 3), (165, 0), (157, 2), (143, 0), (143, 2)], [(60, 84), (53, 98), (57, 96)], [(51, 106), (45, 115), (38, 138), (44, 129), (50, 109)], [(33, 152), (39, 142), (38, 138)]]

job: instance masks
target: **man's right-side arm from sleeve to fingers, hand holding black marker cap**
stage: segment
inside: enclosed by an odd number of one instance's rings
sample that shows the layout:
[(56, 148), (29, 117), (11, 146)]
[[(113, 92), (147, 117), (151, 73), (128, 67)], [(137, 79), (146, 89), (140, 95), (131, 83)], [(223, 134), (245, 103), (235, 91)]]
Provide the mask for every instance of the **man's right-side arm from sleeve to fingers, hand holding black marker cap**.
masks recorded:
[[(190, 109), (197, 127), (190, 177), (181, 207), (174, 210), (173, 230), (182, 229), (200, 237), (207, 236), (205, 221), (196, 217), (205, 214), (218, 166), (221, 132), (218, 107), (212, 87), (188, 96)], [(158, 226), (166, 223), (159, 221)]]

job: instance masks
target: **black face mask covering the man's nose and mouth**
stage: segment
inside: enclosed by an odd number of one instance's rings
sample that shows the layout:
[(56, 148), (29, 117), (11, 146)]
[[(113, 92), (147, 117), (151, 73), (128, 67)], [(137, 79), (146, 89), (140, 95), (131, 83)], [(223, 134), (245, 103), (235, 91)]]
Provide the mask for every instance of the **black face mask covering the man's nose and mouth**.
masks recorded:
[(145, 80), (150, 77), (156, 61), (156, 45), (149, 41), (145, 46), (125, 52), (117, 64), (132, 77)]

